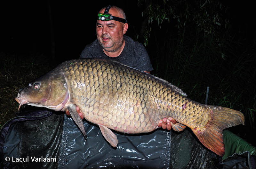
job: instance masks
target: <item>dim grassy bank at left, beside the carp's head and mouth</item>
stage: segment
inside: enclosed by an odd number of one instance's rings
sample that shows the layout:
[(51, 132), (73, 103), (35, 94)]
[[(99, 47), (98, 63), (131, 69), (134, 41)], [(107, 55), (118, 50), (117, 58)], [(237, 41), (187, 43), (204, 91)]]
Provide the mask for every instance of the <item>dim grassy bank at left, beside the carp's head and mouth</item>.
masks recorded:
[(49, 60), (43, 55), (0, 53), (0, 128), (18, 112), (19, 103), (15, 97), (19, 89), (55, 66), (49, 64)]

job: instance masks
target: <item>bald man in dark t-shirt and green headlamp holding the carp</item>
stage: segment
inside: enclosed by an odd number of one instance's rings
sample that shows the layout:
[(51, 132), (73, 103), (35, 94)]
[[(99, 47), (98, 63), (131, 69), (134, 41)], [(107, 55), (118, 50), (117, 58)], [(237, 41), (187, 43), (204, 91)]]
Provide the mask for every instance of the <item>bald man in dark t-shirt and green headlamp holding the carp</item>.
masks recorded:
[[(110, 20), (108, 16), (109, 19), (106, 20), (103, 14), (111, 14), (113, 19)], [(99, 15), (96, 23), (97, 39), (84, 48), (80, 58), (115, 60), (150, 74), (153, 68), (146, 49), (139, 42), (124, 35), (128, 29), (124, 11), (119, 7), (108, 5), (99, 11)], [(104, 18), (100, 20), (100, 17)], [(83, 119), (79, 108), (76, 109)], [(70, 115), (68, 110), (66, 114)], [(159, 121), (158, 127), (171, 130), (171, 123), (176, 123), (176, 121), (171, 117), (164, 118)]]

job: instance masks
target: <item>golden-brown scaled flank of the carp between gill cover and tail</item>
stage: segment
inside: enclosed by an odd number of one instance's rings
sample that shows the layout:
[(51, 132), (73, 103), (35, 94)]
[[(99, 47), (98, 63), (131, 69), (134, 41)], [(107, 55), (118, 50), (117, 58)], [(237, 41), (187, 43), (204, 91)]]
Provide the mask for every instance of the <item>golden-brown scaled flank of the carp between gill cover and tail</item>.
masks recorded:
[[(194, 114), (193, 108), (196, 107), (196, 104), (190, 109), (188, 107), (184, 109), (182, 106), (186, 102), (189, 102), (188, 105), (191, 106), (193, 105), (192, 101), (173, 92), (168, 85), (152, 79), (140, 71), (130, 71), (128, 68), (120, 69), (116, 64), (118, 63), (108, 62), (106, 64), (103, 61), (88, 60), (74, 62), (66, 69), (68, 79), (73, 81), (70, 83), (72, 93), (74, 93), (73, 98), (77, 98), (78, 102), (81, 100), (81, 103), (76, 102), (76, 104), (79, 105), (87, 120), (93, 123), (100, 120), (108, 128), (128, 133), (152, 131), (157, 127), (160, 119), (169, 116), (193, 128), (209, 121), (206, 118), (200, 123), (193, 123), (205, 115), (202, 113), (203, 110), (196, 111), (197, 115)], [(80, 68), (78, 69), (78, 67)], [(84, 70), (87, 72), (84, 73)], [(88, 81), (84, 83), (84, 79), (88, 79)], [(85, 87), (81, 88), (83, 84)], [(94, 86), (95, 84), (99, 85)], [(130, 87), (132, 84), (134, 84), (133, 88)], [(148, 95), (152, 89), (153, 95)], [(82, 93), (86, 93), (86, 95)], [(108, 99), (111, 94), (113, 98)], [(92, 97), (93, 95), (95, 96)], [(131, 99), (133, 99), (132, 102)], [(86, 100), (87, 102), (84, 102)], [(114, 104), (116, 102), (119, 104)], [(113, 114), (114, 109), (119, 113)], [(102, 119), (99, 119), (99, 111), (103, 116)], [(157, 114), (158, 112), (159, 114)], [(183, 116), (180, 116), (181, 113)], [(131, 114), (132, 116), (130, 116)], [(193, 114), (193, 118), (191, 118), (191, 114)], [(145, 121), (146, 119), (147, 121)]]

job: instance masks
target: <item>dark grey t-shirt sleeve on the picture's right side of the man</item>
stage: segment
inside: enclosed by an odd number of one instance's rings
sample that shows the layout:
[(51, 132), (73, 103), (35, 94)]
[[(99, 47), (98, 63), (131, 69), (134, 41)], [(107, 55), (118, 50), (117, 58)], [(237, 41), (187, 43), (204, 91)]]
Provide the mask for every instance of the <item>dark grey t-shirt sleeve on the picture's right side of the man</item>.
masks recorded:
[(138, 45), (138, 52), (136, 55), (137, 55), (136, 62), (134, 63), (135, 64), (134, 67), (136, 67), (137, 69), (139, 69), (141, 71), (150, 72), (153, 70), (148, 53), (142, 44)]

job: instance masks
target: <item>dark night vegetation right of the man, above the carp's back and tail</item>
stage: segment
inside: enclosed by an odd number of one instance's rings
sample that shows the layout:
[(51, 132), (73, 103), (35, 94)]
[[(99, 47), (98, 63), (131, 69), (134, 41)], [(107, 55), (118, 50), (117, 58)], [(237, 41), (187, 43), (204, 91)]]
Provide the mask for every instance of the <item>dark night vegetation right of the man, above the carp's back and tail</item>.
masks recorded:
[(138, 5), (147, 21), (140, 36), (152, 73), (202, 103), (209, 86), (208, 104), (245, 114), (245, 128), (237, 134), (255, 132), (256, 42), (244, 36), (246, 26), (237, 28), (232, 21), (231, 6), (211, 0), (139, 0)]

